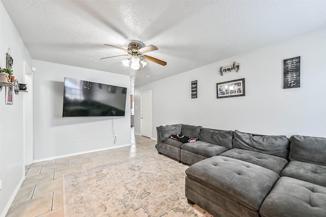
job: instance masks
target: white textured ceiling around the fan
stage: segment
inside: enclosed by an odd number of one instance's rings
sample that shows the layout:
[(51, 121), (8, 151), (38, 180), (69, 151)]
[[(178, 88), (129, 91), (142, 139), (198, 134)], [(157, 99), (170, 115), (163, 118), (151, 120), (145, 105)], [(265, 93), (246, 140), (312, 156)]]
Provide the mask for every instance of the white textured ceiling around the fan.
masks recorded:
[[(130, 75), (135, 86), (326, 28), (326, 1), (2, 2), (33, 59)], [(131, 40), (157, 46), (147, 54), (167, 66), (100, 60), (125, 54), (103, 44)]]

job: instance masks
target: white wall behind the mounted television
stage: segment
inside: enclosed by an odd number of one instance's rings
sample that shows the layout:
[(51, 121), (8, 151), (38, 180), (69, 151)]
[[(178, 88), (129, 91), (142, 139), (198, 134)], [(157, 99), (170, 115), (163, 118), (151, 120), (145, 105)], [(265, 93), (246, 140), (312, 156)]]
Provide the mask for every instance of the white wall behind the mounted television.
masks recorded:
[(130, 76), (54, 64), (33, 59), (34, 72), (34, 160), (71, 156), (130, 144), (130, 100), (124, 117), (62, 117), (64, 78), (76, 78), (127, 87)]

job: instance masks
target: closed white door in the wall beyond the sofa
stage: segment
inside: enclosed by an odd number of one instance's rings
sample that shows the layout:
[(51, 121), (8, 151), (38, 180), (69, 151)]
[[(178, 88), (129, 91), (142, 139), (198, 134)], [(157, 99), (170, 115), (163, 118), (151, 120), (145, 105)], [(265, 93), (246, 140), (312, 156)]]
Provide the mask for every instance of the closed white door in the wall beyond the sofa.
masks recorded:
[(152, 137), (152, 92), (141, 94), (141, 134)]

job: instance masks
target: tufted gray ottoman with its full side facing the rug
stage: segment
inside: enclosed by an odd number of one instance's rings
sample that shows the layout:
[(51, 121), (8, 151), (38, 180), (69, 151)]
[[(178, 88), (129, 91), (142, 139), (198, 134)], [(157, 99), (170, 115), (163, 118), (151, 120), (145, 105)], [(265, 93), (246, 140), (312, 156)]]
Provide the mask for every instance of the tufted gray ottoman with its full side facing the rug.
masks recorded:
[(259, 208), (280, 176), (233, 158), (214, 156), (185, 171), (185, 196), (214, 216), (259, 216)]

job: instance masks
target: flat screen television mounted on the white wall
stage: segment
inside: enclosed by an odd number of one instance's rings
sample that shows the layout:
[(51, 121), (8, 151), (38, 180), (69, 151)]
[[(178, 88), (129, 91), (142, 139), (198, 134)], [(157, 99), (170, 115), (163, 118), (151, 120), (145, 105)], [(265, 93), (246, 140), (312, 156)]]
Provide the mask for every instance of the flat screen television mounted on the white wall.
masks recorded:
[(126, 87), (65, 78), (62, 116), (124, 116), (126, 99)]

